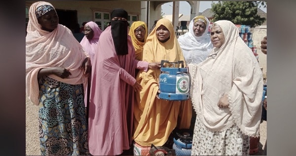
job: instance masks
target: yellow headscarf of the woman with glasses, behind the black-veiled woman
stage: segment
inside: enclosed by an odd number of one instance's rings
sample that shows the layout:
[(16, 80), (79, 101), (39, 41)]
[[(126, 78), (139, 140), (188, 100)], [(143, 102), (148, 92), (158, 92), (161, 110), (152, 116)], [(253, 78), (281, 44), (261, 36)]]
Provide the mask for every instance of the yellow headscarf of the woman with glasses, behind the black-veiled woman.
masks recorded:
[[(135, 30), (139, 27), (142, 26), (145, 28), (145, 37), (144, 37), (144, 42), (141, 42), (137, 39), (136, 34), (135, 34)], [(136, 51), (136, 59), (142, 61), (143, 58), (143, 46), (146, 42), (147, 36), (148, 36), (148, 29), (147, 29), (147, 25), (145, 22), (142, 21), (136, 21), (131, 25), (130, 31), (128, 33), (131, 38), (132, 38), (132, 42), (133, 42), (133, 46), (135, 47), (135, 51)]]

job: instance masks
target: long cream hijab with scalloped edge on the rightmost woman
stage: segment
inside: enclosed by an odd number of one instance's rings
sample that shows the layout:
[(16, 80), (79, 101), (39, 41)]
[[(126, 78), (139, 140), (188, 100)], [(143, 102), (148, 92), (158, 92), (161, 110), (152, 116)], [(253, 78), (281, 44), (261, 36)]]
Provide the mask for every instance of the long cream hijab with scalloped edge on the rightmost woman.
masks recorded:
[[(259, 136), (263, 79), (259, 63), (239, 37), (230, 21), (217, 21), (225, 42), (214, 48), (200, 64), (188, 64), (192, 77), (190, 96), (197, 117), (212, 131), (236, 123), (249, 136)], [(215, 56), (215, 55), (213, 55)], [(219, 108), (219, 99), (228, 95), (229, 108)]]

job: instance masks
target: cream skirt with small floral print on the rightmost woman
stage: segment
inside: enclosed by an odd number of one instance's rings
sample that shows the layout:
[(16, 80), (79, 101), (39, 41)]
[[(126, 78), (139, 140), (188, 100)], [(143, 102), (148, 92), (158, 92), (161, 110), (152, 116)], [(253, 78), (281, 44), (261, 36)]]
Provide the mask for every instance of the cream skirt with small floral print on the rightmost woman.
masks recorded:
[(249, 156), (250, 137), (237, 125), (223, 131), (210, 131), (196, 118), (191, 156)]

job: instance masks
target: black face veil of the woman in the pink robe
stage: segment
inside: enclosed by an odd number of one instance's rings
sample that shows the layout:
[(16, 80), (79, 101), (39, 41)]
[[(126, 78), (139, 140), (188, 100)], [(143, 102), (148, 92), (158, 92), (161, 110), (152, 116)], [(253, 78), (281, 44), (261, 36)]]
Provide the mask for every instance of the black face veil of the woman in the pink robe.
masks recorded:
[[(111, 12), (111, 19), (114, 17), (127, 19), (127, 12), (122, 8), (116, 8)], [(128, 54), (127, 26), (127, 21), (111, 20), (111, 34), (117, 55)]]

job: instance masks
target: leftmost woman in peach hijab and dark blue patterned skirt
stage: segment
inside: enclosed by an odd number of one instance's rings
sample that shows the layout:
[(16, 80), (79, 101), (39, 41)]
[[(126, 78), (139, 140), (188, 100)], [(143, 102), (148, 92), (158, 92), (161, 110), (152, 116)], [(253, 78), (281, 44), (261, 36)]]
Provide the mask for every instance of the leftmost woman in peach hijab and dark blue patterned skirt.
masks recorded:
[(55, 8), (37, 1), (29, 10), (26, 94), (39, 105), (41, 155), (89, 155), (83, 93), (91, 62)]

